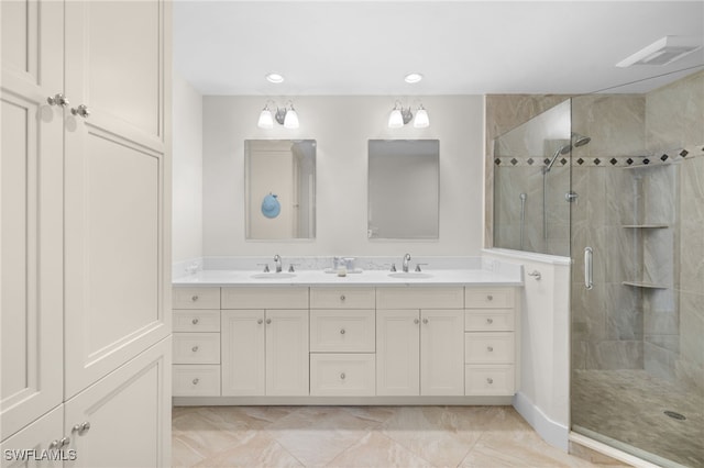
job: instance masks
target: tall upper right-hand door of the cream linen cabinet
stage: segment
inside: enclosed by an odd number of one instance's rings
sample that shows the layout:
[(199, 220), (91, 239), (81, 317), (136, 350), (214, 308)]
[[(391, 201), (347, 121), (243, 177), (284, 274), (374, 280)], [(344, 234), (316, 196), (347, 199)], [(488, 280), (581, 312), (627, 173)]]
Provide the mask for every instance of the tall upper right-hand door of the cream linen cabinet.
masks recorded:
[(67, 398), (170, 332), (168, 7), (66, 2)]

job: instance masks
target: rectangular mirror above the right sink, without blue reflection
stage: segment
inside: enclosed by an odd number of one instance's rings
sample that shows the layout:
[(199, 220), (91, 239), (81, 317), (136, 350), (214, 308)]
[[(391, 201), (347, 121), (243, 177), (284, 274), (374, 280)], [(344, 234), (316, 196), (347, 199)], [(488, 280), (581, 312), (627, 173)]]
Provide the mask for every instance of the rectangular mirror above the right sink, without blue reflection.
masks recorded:
[(440, 142), (370, 140), (367, 237), (437, 239)]

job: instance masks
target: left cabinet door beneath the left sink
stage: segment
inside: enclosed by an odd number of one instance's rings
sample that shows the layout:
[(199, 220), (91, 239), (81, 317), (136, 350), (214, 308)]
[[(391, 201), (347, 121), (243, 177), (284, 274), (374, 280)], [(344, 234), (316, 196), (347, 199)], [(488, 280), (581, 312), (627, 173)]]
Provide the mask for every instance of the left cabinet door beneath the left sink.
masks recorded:
[(222, 311), (220, 324), (222, 395), (263, 395), (264, 311)]

